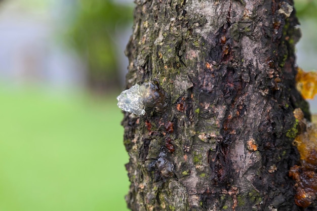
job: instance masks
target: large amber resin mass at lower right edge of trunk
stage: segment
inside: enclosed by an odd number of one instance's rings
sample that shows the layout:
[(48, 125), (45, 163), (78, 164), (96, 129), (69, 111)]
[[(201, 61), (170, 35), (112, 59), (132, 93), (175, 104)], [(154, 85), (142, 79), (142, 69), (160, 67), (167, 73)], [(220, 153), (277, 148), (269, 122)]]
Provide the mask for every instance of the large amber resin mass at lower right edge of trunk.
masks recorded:
[(294, 116), (299, 130), (294, 145), (300, 153), (300, 165), (291, 167), (289, 176), (296, 181), (295, 203), (307, 207), (317, 195), (317, 126), (304, 119), (299, 108), (294, 110)]

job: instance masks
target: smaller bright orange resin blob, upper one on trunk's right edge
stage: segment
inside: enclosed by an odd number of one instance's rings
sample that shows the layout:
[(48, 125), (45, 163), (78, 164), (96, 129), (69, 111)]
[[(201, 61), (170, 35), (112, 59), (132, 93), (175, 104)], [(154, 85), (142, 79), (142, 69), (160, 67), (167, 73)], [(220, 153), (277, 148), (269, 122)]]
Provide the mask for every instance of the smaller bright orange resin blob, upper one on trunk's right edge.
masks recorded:
[(304, 99), (313, 99), (317, 94), (317, 72), (304, 72), (297, 68), (296, 89)]

